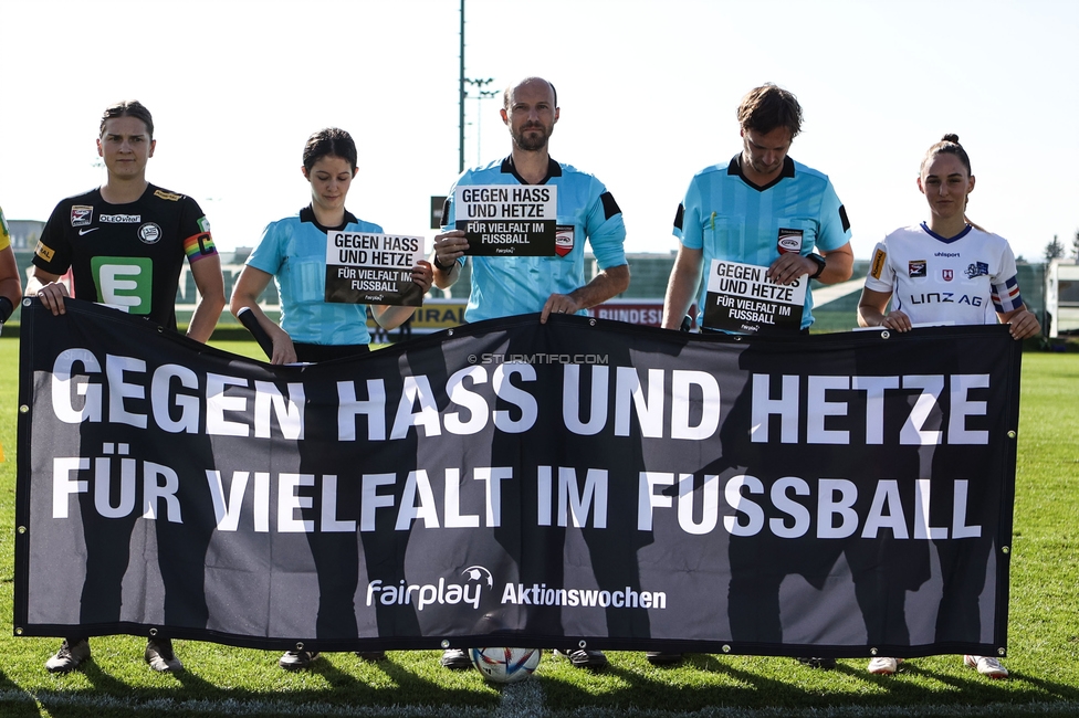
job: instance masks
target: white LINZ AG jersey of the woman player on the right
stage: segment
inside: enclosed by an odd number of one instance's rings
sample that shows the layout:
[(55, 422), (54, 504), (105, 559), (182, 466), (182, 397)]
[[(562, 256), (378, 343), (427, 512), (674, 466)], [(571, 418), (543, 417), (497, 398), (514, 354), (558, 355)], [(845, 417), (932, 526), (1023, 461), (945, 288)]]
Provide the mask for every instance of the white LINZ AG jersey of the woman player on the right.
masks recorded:
[(1023, 306), (1015, 256), (1003, 236), (967, 225), (944, 239), (923, 222), (877, 243), (866, 288), (890, 292), (913, 324), (996, 324)]

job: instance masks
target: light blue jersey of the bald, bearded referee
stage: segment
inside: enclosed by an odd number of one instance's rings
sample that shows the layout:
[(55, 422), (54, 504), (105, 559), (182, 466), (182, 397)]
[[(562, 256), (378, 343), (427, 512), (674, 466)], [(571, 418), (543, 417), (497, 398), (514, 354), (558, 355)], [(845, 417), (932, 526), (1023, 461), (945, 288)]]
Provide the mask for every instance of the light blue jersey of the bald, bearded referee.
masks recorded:
[[(473, 256), (472, 293), (464, 310), (468, 321), (542, 312), (552, 294), (569, 294), (585, 284), (585, 239), (600, 270), (626, 264), (622, 213), (598, 179), (569, 165), (551, 160), (540, 182), (558, 188), (558, 231), (573, 230), (573, 247), (565, 256)], [(527, 184), (507, 157), (467, 170), (450, 189), (442, 229), (454, 228), (453, 193), (474, 184)], [(458, 260), (464, 264), (465, 257)], [(578, 313), (578, 314), (584, 314)]]

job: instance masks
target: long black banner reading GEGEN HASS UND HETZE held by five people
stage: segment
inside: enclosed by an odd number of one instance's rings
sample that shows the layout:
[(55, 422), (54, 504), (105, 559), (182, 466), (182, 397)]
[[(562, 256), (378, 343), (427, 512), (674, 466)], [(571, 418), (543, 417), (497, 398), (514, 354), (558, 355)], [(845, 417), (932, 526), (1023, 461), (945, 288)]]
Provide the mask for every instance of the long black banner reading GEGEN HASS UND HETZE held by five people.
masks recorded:
[(14, 627), (233, 645), (1006, 647), (1004, 327), (535, 315), (271, 367), (23, 307)]

